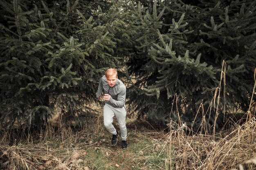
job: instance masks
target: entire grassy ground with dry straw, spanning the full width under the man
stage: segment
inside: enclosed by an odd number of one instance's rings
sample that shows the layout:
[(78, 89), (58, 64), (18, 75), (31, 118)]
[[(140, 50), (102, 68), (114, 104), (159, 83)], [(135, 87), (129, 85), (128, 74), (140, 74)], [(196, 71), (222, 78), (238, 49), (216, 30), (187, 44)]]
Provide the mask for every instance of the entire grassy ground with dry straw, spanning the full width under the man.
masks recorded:
[[(215, 136), (155, 129), (128, 117), (128, 148), (103, 127), (102, 115), (83, 128), (47, 127), (41, 134), (0, 133), (0, 170), (255, 170), (256, 119)], [(115, 127), (117, 127), (116, 121)]]

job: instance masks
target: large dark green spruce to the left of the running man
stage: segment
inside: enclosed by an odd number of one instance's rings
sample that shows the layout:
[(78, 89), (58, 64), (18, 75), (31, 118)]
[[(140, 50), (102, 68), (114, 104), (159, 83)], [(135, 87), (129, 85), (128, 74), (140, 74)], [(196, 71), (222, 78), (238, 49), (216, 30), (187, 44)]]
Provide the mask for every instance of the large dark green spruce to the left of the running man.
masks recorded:
[(54, 106), (72, 116), (119, 67), (119, 4), (102, 0), (0, 1), (0, 123), (44, 126)]

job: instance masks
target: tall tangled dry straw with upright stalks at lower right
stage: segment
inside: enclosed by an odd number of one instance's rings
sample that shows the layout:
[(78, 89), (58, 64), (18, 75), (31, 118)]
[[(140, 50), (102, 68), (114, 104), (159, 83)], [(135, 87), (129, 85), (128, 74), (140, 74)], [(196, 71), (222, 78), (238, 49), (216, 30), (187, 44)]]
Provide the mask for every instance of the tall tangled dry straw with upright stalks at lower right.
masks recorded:
[[(254, 90), (256, 87), (256, 68), (254, 71), (254, 88), (252, 91), (251, 102), (247, 112), (247, 121), (243, 125), (236, 124), (235, 121), (227, 122), (232, 124), (230, 129), (222, 130), (216, 133), (216, 120), (218, 118), (220, 98), (223, 98), (224, 103), (222, 110), (225, 112), (225, 71), (226, 63), (222, 63), (222, 71), (220, 77), (220, 84), (216, 88), (213, 100), (206, 112), (203, 110), (201, 104), (198, 113), (202, 113), (202, 120), (200, 124), (201, 132), (194, 132), (189, 129), (186, 124), (180, 120), (180, 115), (177, 110), (171, 114), (177, 114), (178, 122), (170, 122), (170, 132), (168, 134), (168, 155), (169, 167), (167, 169), (175, 170), (255, 170), (256, 169), (256, 118), (251, 111)], [(223, 90), (221, 90), (223, 88)], [(221, 95), (223, 91), (223, 96)], [(177, 104), (177, 95), (175, 95)], [(212, 106), (216, 106), (214, 114), (211, 113)], [(213, 135), (209, 135), (207, 129), (207, 121), (205, 115), (215, 115), (213, 125)], [(254, 113), (255, 114), (255, 113)], [(195, 122), (195, 120), (193, 121)], [(178, 129), (172, 128), (173, 123)], [(193, 123), (192, 123), (193, 127)], [(174, 130), (173, 130), (174, 129)], [(190, 135), (185, 135), (188, 132)], [(204, 133), (202, 133), (204, 132)]]

